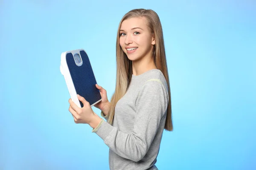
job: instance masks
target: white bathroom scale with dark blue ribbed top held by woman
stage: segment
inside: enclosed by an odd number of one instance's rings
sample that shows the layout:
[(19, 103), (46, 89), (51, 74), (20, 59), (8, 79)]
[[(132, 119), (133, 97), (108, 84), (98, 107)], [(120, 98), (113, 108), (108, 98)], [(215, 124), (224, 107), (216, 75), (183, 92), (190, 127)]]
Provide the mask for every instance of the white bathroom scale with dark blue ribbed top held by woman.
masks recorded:
[(70, 97), (79, 108), (84, 105), (77, 94), (83, 96), (90, 106), (102, 100), (96, 79), (87, 53), (84, 49), (65, 51), (61, 53), (61, 74), (67, 84)]

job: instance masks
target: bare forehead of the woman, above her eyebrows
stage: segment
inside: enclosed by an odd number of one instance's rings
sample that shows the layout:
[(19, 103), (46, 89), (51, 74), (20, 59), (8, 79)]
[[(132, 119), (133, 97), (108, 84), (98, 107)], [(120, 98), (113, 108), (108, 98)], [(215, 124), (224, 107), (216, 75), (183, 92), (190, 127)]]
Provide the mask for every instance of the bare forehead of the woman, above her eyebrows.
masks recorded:
[(124, 20), (121, 24), (121, 28), (122, 30), (131, 30), (131, 28), (142, 28), (143, 30), (147, 29), (147, 20), (145, 19), (145, 17), (133, 17), (133, 18), (129, 18), (127, 20)]

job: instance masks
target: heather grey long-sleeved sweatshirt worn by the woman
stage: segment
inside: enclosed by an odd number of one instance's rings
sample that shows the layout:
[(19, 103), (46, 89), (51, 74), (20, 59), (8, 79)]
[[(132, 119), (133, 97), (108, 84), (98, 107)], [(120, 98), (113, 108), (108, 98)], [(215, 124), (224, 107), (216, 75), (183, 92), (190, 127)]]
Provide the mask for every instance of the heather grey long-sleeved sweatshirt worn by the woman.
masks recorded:
[(132, 75), (116, 103), (113, 126), (105, 118), (92, 130), (109, 147), (110, 170), (158, 170), (155, 163), (166, 121), (168, 85), (158, 69)]

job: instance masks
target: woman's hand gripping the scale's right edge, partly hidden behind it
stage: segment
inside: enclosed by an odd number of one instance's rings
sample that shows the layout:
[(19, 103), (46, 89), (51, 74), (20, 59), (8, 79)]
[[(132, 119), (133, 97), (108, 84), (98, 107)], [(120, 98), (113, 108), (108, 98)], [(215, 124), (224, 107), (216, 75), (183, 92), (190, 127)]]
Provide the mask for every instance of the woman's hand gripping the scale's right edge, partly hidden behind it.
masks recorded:
[(96, 84), (96, 88), (99, 89), (99, 93), (102, 97), (102, 101), (100, 101), (94, 106), (100, 109), (101, 111), (105, 111), (105, 113), (108, 113), (110, 102), (108, 101), (107, 91), (104, 88), (102, 88), (102, 86), (99, 86), (97, 84)]

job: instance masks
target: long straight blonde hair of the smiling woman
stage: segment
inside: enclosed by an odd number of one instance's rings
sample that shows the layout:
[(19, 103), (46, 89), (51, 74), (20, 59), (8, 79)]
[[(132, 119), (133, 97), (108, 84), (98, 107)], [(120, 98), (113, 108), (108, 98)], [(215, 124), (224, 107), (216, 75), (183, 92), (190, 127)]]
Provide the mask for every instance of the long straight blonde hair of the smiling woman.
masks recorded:
[(157, 66), (157, 69), (163, 72), (163, 75), (166, 78), (169, 91), (169, 104), (167, 108), (167, 116), (165, 129), (168, 131), (173, 130), (172, 126), (172, 106), (171, 106), (171, 91), (169, 84), (169, 75), (166, 63), (166, 54), (165, 47), (163, 42), (163, 30), (160, 23), (160, 19), (157, 13), (151, 9), (134, 9), (129, 11), (127, 14), (122, 17), (122, 20), (119, 23), (117, 38), (116, 38), (116, 88), (113, 96), (111, 97), (110, 111), (108, 113), (108, 123), (113, 124), (113, 118), (115, 114), (116, 103), (122, 96), (125, 95), (126, 90), (131, 82), (132, 77), (132, 61), (128, 59), (126, 54), (122, 51), (122, 48), (119, 44), (119, 31), (121, 24), (124, 20), (127, 20), (132, 17), (145, 17), (148, 21), (148, 28), (151, 30), (152, 36), (155, 38), (155, 45), (153, 49), (154, 53), (154, 62)]

